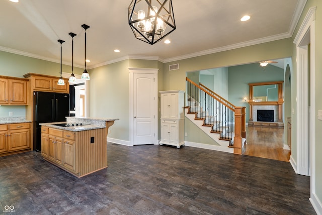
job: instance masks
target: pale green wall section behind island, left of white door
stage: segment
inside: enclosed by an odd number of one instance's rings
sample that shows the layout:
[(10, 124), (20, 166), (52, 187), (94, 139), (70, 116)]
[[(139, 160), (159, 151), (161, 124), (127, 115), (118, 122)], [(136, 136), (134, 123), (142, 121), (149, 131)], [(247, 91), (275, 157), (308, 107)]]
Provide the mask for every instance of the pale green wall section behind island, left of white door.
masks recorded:
[(89, 71), (90, 117), (120, 119), (110, 128), (110, 138), (129, 141), (129, 60)]

